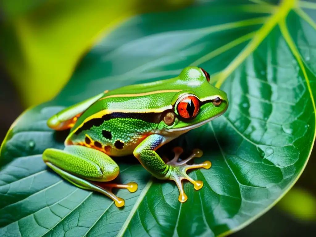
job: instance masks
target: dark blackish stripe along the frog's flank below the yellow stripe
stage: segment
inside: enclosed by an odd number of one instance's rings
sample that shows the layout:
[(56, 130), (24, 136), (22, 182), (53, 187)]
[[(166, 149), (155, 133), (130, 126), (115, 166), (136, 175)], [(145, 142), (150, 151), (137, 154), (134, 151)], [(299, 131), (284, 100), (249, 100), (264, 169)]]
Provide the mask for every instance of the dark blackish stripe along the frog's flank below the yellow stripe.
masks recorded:
[(110, 119), (116, 119), (116, 118), (129, 118), (129, 119), (139, 119), (144, 122), (159, 124), (160, 121), (163, 119), (163, 116), (166, 114), (167, 111), (160, 112), (160, 113), (122, 113), (122, 112), (114, 112), (103, 115), (101, 118), (95, 118), (87, 121), (84, 123), (81, 127), (79, 127), (74, 134), (78, 135), (84, 130), (89, 130), (93, 126), (99, 127), (101, 124), (103, 124), (104, 121), (110, 120)]

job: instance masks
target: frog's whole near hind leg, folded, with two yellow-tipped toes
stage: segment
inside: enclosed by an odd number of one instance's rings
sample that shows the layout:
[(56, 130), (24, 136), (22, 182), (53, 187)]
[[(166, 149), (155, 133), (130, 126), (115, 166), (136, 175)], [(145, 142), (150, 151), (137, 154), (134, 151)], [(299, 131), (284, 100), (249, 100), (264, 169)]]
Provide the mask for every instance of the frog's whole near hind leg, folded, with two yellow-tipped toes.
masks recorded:
[(64, 150), (46, 149), (43, 160), (64, 179), (77, 187), (105, 194), (118, 207), (124, 206), (125, 201), (112, 193), (113, 187), (127, 188), (131, 192), (137, 190), (134, 182), (126, 185), (97, 183), (111, 181), (119, 175), (119, 166), (99, 150), (78, 145), (66, 146)]

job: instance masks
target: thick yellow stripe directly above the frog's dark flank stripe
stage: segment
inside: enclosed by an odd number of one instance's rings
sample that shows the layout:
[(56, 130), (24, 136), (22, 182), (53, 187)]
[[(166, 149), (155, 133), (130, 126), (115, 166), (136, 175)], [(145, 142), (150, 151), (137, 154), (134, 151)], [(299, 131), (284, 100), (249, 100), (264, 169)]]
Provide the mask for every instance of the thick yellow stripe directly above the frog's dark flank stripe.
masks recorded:
[(86, 122), (90, 121), (91, 119), (100, 119), (106, 114), (110, 113), (161, 113), (164, 112), (167, 109), (172, 109), (172, 105), (167, 105), (161, 108), (155, 108), (155, 109), (124, 109), (124, 110), (113, 110), (113, 109), (105, 109), (101, 110), (88, 118), (86, 118), (72, 133), (75, 133), (79, 128), (81, 128)]

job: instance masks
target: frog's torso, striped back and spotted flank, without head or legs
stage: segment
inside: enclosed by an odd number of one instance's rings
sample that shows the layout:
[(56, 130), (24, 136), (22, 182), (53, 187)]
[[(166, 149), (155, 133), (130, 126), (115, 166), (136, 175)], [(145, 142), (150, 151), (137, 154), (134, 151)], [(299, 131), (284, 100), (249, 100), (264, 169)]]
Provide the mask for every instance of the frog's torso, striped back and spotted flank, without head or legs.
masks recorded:
[(78, 118), (65, 144), (84, 145), (113, 156), (132, 154), (140, 142), (155, 133), (166, 110), (172, 109), (165, 101), (180, 91), (154, 90), (153, 83), (148, 84), (105, 93)]

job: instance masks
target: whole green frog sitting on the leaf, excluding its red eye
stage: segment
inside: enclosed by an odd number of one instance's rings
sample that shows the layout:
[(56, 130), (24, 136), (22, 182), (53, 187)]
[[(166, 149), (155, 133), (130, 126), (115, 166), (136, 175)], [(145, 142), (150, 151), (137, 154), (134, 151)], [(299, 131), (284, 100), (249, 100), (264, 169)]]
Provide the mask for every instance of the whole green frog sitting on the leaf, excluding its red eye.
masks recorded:
[[(95, 181), (106, 182), (118, 176), (119, 167), (110, 156), (134, 154), (158, 179), (176, 181), (180, 191), (179, 201), (185, 202), (187, 198), (182, 179), (191, 181), (195, 189), (203, 186), (202, 181), (192, 180), (186, 170), (210, 168), (210, 162), (186, 165), (188, 159), (202, 155), (199, 150), (195, 150), (190, 158), (178, 163), (181, 149), (176, 149), (176, 157), (165, 164), (155, 150), (226, 111), (226, 93), (211, 85), (208, 77), (198, 67), (187, 67), (177, 77), (105, 91), (62, 110), (48, 120), (48, 126), (55, 130), (71, 127), (65, 140), (65, 149), (47, 149), (43, 154), (44, 161), (73, 184), (104, 193), (117, 206), (122, 206), (124, 200), (109, 189), (125, 187), (136, 191), (137, 184), (101, 185)], [(199, 100), (196, 106), (190, 107), (191, 115), (199, 107), (197, 115), (190, 119), (182, 118), (182, 113), (179, 114), (177, 110), (179, 101), (187, 96)], [(218, 98), (220, 104), (214, 102)]]

